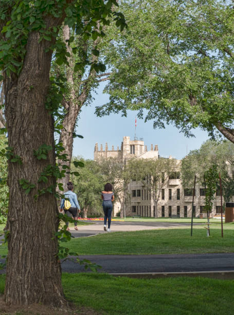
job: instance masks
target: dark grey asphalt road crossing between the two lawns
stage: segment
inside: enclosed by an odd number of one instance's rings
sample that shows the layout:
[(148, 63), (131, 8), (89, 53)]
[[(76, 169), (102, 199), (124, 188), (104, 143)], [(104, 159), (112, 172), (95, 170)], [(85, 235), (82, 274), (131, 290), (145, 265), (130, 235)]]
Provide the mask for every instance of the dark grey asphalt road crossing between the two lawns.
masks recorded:
[[(89, 255), (88, 259), (107, 273), (234, 271), (234, 253), (182, 255)], [(62, 263), (64, 272), (85, 272), (73, 261)], [(90, 271), (90, 270), (87, 270)]]

